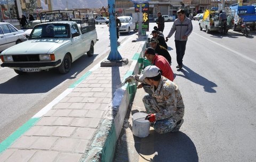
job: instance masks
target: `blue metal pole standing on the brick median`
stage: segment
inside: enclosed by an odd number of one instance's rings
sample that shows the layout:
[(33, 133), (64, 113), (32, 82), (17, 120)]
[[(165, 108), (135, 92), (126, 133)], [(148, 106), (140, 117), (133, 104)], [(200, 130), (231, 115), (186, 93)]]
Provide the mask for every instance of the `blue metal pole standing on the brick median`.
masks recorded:
[(108, 55), (109, 61), (119, 61), (123, 59), (120, 53), (117, 51), (115, 2), (116, 2), (115, 0), (108, 0), (109, 33), (110, 33), (110, 53)]

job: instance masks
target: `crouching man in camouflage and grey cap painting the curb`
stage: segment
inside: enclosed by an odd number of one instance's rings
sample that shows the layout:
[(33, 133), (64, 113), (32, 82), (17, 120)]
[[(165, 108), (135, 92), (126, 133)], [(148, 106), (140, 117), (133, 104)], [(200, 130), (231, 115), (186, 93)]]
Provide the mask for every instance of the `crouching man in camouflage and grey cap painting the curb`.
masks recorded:
[(148, 113), (146, 119), (154, 123), (155, 131), (160, 134), (179, 131), (185, 107), (178, 86), (162, 76), (156, 66), (147, 66), (143, 74), (130, 76), (125, 82), (131, 79), (151, 86), (153, 94), (146, 93), (142, 101)]

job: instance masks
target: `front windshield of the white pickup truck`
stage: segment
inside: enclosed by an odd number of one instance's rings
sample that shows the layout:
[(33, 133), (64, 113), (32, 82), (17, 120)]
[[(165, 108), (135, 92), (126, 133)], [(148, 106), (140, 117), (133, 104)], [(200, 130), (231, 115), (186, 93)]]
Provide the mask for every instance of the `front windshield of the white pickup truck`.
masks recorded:
[(43, 38), (69, 38), (68, 24), (52, 23), (42, 24), (34, 27), (29, 39), (43, 39)]

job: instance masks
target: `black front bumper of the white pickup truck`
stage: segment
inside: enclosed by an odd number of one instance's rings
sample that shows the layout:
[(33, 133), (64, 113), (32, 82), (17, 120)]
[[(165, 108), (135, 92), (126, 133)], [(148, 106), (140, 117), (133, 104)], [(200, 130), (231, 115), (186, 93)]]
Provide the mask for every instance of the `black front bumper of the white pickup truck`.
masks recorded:
[(39, 67), (55, 67), (60, 64), (61, 61), (55, 62), (14, 62), (14, 63), (2, 63), (1, 67), (10, 67), (10, 68), (39, 68)]

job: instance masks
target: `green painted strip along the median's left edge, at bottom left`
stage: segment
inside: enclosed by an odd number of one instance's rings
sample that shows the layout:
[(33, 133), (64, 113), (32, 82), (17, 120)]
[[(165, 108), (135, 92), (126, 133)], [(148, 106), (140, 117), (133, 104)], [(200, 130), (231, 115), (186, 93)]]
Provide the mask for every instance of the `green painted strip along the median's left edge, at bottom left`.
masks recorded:
[(28, 122), (23, 124), (15, 132), (13, 132), (9, 137), (7, 137), (7, 139), (5, 139), (2, 143), (0, 143), (0, 153), (3, 152), (4, 150), (6, 150), (7, 148), (9, 148), (10, 145), (15, 140), (17, 140), (23, 133), (28, 131), (29, 128), (34, 126), (39, 119), (40, 118), (31, 118), (31, 119), (29, 119)]

